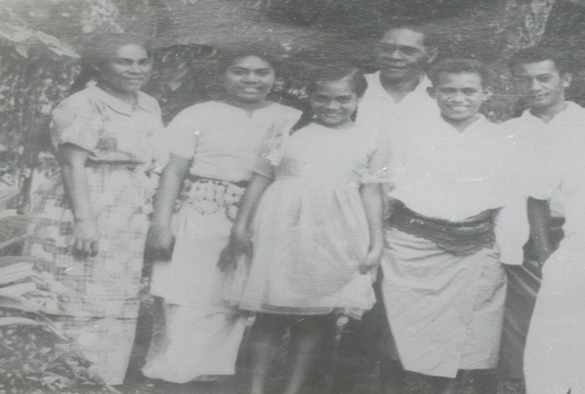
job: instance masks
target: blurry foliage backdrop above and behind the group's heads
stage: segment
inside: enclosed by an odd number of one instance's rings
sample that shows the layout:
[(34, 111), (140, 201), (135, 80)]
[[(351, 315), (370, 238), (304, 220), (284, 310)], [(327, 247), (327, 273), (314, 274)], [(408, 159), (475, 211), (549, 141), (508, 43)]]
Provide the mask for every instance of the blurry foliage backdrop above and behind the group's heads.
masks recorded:
[[(556, 36), (571, 36), (579, 47), (575, 31), (583, 13), (571, 7), (582, 10), (566, 0), (0, 0), (0, 175), (43, 166), (37, 153), (48, 149), (43, 137), (50, 111), (76, 76), (75, 48), (95, 32), (128, 30), (153, 39), (156, 73), (147, 91), (159, 98), (168, 121), (217, 94), (215, 46), (279, 42), (288, 73), (275, 98), (295, 105), (312, 63), (343, 56), (370, 71), (372, 39), (407, 19), (432, 28), (443, 54), (493, 66), (498, 96), (485, 112), (499, 121), (513, 114), (502, 66), (518, 47), (541, 39), (547, 21), (553, 25), (547, 30), (557, 26)], [(47, 157), (41, 155), (45, 166)]]

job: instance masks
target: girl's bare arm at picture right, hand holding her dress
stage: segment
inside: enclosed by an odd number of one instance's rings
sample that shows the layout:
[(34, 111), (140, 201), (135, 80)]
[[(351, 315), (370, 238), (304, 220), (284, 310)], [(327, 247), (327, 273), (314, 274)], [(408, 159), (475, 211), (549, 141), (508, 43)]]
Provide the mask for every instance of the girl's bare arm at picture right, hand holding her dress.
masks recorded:
[(379, 265), (384, 249), (382, 186), (381, 184), (365, 184), (360, 188), (360, 195), (370, 230), (370, 250), (360, 267), (360, 272), (365, 274)]

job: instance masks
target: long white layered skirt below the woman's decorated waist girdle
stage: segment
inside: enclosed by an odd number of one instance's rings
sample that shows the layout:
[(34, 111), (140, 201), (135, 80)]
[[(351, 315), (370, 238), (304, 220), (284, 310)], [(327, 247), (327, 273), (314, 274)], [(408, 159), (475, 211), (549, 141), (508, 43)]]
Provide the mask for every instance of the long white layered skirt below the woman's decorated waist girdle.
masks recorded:
[(164, 298), (164, 319), (155, 316), (158, 323), (142, 373), (175, 383), (231, 375), (246, 317), (224, 301), (226, 278), (217, 270), (217, 260), (233, 223), (223, 211), (201, 215), (189, 204), (174, 221), (173, 257), (153, 266), (151, 294)]

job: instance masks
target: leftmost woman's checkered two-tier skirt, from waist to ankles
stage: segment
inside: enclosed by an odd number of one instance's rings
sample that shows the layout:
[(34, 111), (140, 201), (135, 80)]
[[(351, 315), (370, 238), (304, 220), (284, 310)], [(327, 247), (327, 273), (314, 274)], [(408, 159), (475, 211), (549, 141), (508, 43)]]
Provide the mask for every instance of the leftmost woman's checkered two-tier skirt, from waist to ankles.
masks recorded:
[(136, 167), (114, 165), (88, 167), (87, 177), (98, 255), (71, 252), (73, 215), (59, 174), (33, 196), (32, 236), (23, 254), (46, 261), (36, 268), (50, 278), (51, 299), (37, 304), (70, 339), (61, 347), (93, 362), (108, 384), (122, 384), (138, 318), (150, 179)]

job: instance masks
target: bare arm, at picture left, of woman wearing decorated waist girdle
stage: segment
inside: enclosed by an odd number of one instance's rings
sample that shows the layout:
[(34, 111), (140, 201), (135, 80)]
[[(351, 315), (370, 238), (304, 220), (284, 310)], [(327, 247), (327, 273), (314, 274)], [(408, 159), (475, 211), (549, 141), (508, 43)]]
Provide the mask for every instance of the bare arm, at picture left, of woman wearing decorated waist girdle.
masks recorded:
[(160, 176), (160, 183), (153, 198), (152, 222), (147, 234), (147, 249), (153, 259), (171, 258), (171, 246), (174, 241), (171, 218), (189, 166), (191, 160), (171, 153), (169, 164), (164, 167)]

